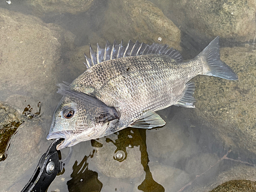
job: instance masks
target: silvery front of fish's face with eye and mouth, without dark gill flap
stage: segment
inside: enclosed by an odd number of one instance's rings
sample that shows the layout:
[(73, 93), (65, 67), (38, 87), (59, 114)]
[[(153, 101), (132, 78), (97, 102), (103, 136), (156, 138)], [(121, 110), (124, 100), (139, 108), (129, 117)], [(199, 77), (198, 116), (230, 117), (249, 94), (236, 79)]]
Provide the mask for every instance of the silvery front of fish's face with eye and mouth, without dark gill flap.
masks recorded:
[(80, 141), (90, 140), (96, 122), (89, 118), (87, 110), (83, 107), (84, 103), (73, 97), (63, 97), (59, 102), (47, 136), (48, 140), (65, 139), (57, 146), (57, 150), (73, 146)]

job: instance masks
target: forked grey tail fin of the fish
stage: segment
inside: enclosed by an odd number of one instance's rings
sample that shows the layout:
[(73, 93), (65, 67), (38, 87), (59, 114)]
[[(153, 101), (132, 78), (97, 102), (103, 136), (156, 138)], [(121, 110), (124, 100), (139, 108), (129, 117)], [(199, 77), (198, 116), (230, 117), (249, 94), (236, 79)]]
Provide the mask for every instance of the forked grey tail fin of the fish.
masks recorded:
[(219, 39), (217, 36), (210, 44), (198, 55), (198, 57), (204, 56), (207, 61), (207, 72), (203, 75), (220, 77), (228, 80), (237, 80), (238, 76), (234, 73), (226, 63), (220, 59)]

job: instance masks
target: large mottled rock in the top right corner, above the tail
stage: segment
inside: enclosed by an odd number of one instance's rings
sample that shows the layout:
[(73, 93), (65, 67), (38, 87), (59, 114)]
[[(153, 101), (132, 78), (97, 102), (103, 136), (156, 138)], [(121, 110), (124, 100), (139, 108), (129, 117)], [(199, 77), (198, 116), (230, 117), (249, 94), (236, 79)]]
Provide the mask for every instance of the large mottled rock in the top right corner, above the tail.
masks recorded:
[(191, 36), (221, 36), (255, 41), (255, 1), (151, 0), (168, 18)]

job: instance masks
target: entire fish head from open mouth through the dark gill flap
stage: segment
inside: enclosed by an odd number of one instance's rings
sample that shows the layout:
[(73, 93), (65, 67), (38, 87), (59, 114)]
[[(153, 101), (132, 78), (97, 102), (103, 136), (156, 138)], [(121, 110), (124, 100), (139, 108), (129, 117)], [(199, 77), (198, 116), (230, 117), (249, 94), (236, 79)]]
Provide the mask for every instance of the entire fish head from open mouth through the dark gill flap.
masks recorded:
[(119, 118), (115, 108), (94, 97), (69, 89), (61, 91), (65, 96), (54, 112), (47, 136), (48, 140), (64, 139), (57, 145), (57, 150), (102, 137), (109, 122)]

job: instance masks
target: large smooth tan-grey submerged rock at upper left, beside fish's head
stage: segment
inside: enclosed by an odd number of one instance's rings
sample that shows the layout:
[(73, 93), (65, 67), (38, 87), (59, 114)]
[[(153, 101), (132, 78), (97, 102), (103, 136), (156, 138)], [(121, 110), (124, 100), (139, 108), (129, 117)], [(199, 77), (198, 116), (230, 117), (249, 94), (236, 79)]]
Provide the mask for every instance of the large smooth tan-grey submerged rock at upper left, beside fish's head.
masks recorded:
[[(54, 24), (0, 9), (1, 100), (10, 95), (47, 98), (56, 92), (64, 55), (72, 48), (70, 32)], [(42, 101), (42, 100), (41, 100)]]

